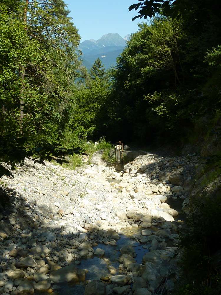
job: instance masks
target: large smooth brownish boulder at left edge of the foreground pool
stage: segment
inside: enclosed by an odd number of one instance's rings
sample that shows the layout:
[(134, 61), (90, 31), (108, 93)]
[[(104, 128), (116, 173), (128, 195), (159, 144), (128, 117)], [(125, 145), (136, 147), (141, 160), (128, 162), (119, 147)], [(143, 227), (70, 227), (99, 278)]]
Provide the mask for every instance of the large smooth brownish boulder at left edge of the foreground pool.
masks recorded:
[(56, 283), (59, 282), (83, 282), (88, 271), (85, 269), (77, 268), (76, 266), (70, 265), (62, 267), (56, 271), (50, 273), (50, 280)]

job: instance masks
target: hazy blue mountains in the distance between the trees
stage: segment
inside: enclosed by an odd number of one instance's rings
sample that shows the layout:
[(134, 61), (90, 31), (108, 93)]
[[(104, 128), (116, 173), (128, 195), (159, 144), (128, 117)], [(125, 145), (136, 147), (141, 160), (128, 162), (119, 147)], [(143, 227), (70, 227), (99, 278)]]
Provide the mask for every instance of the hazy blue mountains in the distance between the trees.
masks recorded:
[[(98, 40), (85, 40), (80, 43), (80, 50), (83, 53), (83, 65), (90, 69), (97, 58), (100, 58), (105, 68), (116, 65), (116, 58), (120, 55), (126, 46), (126, 40), (129, 40), (130, 34), (122, 38), (119, 34), (106, 34)], [(125, 39), (126, 38), (126, 39)]]

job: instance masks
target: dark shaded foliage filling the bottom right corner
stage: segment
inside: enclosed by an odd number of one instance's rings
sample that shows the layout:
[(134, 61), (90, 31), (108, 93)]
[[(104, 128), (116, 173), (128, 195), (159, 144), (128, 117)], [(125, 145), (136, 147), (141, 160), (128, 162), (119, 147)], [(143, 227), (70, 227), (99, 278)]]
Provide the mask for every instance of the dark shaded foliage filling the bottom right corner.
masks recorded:
[(220, 294), (220, 268), (217, 251), (220, 250), (221, 196), (208, 196), (194, 204), (187, 224), (180, 234), (183, 248), (183, 284), (175, 294)]

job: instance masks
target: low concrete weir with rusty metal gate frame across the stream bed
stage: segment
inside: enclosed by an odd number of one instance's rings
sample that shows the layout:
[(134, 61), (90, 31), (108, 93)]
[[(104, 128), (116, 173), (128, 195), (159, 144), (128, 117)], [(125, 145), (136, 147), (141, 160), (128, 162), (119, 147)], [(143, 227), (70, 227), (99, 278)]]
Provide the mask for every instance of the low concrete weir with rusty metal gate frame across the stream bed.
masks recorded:
[[(144, 150), (117, 150), (116, 148), (114, 150), (110, 150), (110, 158), (113, 156), (116, 157), (117, 161), (115, 164), (115, 169), (117, 171), (122, 171), (125, 164), (129, 163), (130, 161), (133, 161), (139, 155), (146, 154), (147, 152)], [(121, 160), (118, 160), (119, 158)]]

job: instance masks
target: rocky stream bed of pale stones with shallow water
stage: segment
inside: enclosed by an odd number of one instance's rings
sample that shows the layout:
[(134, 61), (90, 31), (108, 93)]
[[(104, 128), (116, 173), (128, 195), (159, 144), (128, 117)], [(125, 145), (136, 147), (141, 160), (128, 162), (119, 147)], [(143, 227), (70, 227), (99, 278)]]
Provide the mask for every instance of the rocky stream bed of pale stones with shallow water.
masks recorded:
[(27, 159), (1, 178), (0, 294), (173, 290), (197, 156), (148, 153), (121, 172), (92, 162), (73, 171)]

